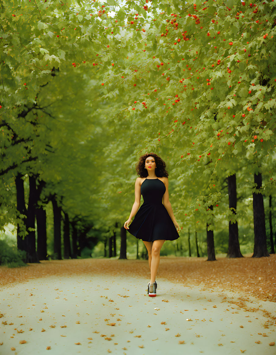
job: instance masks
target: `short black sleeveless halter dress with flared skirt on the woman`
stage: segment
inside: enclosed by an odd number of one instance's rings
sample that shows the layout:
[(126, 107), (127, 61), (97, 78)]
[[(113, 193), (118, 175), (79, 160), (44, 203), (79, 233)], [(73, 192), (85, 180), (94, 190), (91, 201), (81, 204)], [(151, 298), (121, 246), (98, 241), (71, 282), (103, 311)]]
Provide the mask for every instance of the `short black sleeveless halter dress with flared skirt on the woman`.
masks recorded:
[(138, 209), (127, 231), (137, 239), (151, 242), (154, 240), (176, 240), (179, 234), (172, 219), (162, 203), (166, 191), (160, 179), (145, 179), (141, 185), (144, 202)]

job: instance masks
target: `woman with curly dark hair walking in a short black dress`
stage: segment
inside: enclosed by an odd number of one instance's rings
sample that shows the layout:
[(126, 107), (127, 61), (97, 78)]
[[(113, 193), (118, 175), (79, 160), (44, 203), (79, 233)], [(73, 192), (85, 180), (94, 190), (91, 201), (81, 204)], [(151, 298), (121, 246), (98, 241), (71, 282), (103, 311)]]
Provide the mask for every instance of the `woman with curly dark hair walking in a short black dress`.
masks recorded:
[[(165, 167), (165, 162), (154, 153), (140, 157), (136, 165), (137, 175), (140, 177), (135, 182), (135, 201), (131, 214), (124, 224), (129, 233), (136, 236), (137, 239), (143, 240), (148, 250), (150, 268), (148, 295), (150, 297), (156, 296), (155, 277), (162, 245), (165, 240), (179, 238), (178, 232), (180, 230), (169, 201), (169, 174)], [(144, 202), (139, 208), (141, 193)], [(131, 223), (134, 215), (135, 218)]]

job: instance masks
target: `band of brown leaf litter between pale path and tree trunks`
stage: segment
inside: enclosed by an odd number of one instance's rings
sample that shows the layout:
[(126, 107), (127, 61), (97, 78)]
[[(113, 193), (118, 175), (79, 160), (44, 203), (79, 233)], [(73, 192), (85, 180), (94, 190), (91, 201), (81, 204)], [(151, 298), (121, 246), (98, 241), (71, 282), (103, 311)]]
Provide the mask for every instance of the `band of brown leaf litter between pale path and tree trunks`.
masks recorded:
[[(276, 254), (262, 258), (251, 256), (217, 257), (216, 261), (208, 262), (205, 257), (160, 257), (157, 277), (187, 286), (204, 285), (209, 290), (219, 287), (221, 291), (241, 291), (260, 300), (276, 302)], [(148, 278), (149, 266), (147, 260), (41, 260), (40, 263), (28, 263), (24, 267), (0, 266), (0, 286), (50, 275), (78, 274)]]

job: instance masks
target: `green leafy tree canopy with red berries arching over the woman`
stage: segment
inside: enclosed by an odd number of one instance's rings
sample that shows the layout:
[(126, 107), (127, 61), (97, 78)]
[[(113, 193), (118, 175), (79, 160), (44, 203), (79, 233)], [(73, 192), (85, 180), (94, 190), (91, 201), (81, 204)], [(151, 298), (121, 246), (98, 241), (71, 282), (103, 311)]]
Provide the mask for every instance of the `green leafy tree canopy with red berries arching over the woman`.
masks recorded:
[[(247, 224), (254, 172), (275, 196), (274, 2), (257, 12), (230, 0), (116, 5), (2, 1), (0, 225), (21, 223), (19, 171), (39, 174), (43, 196), (57, 193), (99, 239), (112, 235), (134, 202), (135, 163), (151, 151), (166, 162), (180, 235)], [(244, 187), (235, 218), (234, 173)]]

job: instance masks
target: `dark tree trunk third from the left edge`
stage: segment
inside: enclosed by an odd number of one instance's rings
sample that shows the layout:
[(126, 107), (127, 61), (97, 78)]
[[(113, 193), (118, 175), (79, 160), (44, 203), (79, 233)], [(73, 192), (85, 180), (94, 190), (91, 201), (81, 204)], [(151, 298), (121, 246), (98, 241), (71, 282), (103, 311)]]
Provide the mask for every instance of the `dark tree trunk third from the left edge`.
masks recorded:
[(48, 260), (46, 211), (42, 207), (36, 208), (35, 215), (37, 218), (37, 256), (39, 260)]

